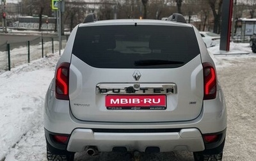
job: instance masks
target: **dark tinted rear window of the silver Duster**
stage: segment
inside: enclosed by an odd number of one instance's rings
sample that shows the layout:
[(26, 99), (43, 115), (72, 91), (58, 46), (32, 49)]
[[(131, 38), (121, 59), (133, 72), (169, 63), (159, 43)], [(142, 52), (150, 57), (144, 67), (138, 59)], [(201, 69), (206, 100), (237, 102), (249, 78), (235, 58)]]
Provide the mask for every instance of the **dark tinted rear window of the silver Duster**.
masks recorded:
[(177, 26), (79, 27), (72, 49), (96, 68), (177, 68), (199, 53), (193, 28)]

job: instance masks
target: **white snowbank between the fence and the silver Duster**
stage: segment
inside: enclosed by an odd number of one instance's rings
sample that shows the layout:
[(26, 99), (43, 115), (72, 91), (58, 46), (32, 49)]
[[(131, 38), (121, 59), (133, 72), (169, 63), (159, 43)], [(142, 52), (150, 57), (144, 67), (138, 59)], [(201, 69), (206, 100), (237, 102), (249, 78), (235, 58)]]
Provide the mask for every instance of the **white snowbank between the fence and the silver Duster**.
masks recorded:
[(0, 75), (0, 160), (31, 128), (42, 125), (44, 96), (58, 54)]

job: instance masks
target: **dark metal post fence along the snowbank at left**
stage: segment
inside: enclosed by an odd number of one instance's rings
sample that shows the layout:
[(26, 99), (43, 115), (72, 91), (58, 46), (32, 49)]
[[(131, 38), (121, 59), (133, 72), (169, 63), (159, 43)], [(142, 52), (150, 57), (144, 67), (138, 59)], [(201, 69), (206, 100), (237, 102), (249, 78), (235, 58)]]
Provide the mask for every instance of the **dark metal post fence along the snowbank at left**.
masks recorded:
[[(64, 49), (68, 37), (61, 38), (61, 49)], [(59, 50), (58, 37), (38, 37), (31, 41), (0, 44), (0, 73), (11, 68), (30, 63), (35, 59), (47, 56)]]

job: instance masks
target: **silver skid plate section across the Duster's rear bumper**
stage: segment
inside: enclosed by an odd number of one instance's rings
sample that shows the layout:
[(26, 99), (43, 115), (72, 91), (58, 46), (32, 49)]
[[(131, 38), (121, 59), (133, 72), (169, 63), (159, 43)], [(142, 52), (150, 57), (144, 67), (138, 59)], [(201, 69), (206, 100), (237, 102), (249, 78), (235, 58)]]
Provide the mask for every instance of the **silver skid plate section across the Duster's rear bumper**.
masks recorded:
[(99, 151), (112, 151), (115, 147), (125, 147), (128, 151), (145, 151), (148, 147), (158, 147), (161, 152), (202, 151), (204, 141), (196, 128), (164, 133), (93, 132), (92, 129), (80, 128), (72, 132), (67, 150), (84, 151), (88, 146), (97, 146)]

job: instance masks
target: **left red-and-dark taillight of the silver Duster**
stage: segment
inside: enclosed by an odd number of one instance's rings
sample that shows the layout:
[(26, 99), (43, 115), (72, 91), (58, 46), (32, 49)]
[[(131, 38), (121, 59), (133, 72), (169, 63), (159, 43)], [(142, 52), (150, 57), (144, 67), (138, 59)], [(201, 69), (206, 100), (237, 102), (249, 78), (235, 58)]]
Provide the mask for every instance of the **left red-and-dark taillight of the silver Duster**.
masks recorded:
[(57, 68), (55, 97), (60, 100), (69, 100), (69, 66), (70, 63), (61, 63)]

